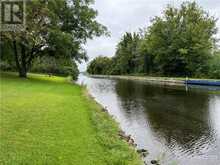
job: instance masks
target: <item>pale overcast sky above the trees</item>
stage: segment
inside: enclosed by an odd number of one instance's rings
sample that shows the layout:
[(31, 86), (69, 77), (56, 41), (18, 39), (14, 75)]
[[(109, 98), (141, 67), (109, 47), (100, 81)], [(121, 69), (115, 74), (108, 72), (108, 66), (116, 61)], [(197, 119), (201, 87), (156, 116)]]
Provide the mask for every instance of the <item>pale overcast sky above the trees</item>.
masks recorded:
[[(121, 36), (125, 32), (138, 31), (150, 25), (150, 19), (161, 15), (167, 4), (179, 6), (184, 0), (95, 0), (93, 8), (98, 10), (97, 20), (107, 26), (111, 37), (89, 40), (85, 49), (89, 61), (99, 55), (111, 57)], [(220, 19), (220, 0), (196, 0), (211, 15)], [(220, 20), (217, 22), (220, 37)], [(79, 65), (80, 71), (86, 64)]]

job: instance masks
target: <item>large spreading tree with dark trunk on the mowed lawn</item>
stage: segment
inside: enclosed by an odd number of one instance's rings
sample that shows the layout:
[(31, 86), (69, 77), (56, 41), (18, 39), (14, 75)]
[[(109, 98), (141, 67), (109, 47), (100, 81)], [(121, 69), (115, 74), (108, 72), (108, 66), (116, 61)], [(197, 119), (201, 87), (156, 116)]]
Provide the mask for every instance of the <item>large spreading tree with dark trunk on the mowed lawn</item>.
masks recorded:
[(26, 77), (33, 60), (53, 56), (66, 60), (86, 60), (82, 48), (87, 39), (106, 34), (95, 18), (93, 0), (27, 1), (26, 29), (2, 32), (2, 59), (15, 62), (20, 77)]

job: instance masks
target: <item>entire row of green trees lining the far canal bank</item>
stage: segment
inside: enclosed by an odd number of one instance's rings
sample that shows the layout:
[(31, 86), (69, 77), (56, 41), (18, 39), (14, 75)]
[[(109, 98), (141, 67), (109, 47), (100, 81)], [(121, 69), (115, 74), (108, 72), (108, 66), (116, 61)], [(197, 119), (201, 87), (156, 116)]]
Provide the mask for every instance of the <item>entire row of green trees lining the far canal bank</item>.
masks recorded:
[(90, 74), (220, 78), (216, 21), (195, 2), (167, 6), (147, 29), (127, 32), (112, 58), (99, 56)]

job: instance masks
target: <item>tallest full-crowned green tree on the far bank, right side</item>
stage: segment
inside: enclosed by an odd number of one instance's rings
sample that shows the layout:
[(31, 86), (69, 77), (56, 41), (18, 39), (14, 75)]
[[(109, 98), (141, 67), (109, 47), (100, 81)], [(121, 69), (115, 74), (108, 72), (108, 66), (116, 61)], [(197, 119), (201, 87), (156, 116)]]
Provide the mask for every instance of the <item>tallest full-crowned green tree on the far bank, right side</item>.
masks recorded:
[(147, 51), (163, 75), (200, 75), (207, 72), (216, 32), (216, 19), (195, 2), (168, 6), (149, 27)]

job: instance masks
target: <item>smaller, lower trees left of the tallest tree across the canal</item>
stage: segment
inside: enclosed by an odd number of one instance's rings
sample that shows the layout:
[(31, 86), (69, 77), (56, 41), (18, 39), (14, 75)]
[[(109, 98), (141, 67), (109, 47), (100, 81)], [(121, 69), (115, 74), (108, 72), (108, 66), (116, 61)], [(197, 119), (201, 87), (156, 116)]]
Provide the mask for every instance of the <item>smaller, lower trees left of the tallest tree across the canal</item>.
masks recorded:
[(90, 74), (131, 74), (139, 69), (140, 36), (137, 33), (126, 33), (117, 45), (113, 58), (97, 57), (88, 65)]

